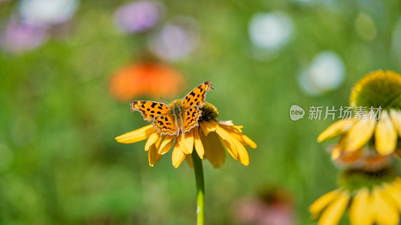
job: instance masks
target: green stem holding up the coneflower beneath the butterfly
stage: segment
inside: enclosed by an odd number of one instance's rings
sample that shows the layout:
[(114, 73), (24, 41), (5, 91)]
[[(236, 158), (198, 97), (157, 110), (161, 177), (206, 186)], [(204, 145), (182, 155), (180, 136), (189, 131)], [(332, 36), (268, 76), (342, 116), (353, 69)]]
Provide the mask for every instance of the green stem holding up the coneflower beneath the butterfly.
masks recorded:
[(204, 225), (205, 217), (205, 181), (204, 181), (204, 168), (202, 159), (199, 158), (195, 149), (192, 153), (193, 171), (195, 172), (196, 181), (196, 224)]

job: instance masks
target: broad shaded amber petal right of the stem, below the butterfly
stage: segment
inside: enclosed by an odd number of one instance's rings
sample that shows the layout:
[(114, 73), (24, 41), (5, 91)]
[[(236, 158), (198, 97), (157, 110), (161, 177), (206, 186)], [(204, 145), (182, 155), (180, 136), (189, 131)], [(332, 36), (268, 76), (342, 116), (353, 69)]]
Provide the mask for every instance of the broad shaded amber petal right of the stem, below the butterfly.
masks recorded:
[(209, 159), (213, 167), (222, 166), (226, 160), (226, 150), (216, 132), (210, 132), (208, 136), (205, 136), (203, 132), (199, 132), (199, 136), (205, 149), (204, 157)]

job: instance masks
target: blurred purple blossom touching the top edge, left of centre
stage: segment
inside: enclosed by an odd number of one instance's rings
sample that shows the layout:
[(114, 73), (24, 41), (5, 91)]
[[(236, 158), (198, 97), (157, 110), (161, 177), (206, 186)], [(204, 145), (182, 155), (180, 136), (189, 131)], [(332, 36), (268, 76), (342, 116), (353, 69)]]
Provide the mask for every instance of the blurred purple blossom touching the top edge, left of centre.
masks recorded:
[(114, 22), (121, 32), (142, 32), (156, 25), (163, 12), (157, 1), (134, 1), (120, 6), (114, 13)]

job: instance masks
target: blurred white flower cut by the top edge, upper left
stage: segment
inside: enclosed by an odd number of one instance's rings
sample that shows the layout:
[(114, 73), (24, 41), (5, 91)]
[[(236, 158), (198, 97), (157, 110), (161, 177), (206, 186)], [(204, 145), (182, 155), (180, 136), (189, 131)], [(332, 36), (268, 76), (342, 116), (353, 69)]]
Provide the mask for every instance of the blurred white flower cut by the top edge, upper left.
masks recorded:
[(78, 4), (78, 0), (22, 0), (20, 14), (31, 23), (57, 24), (68, 20)]

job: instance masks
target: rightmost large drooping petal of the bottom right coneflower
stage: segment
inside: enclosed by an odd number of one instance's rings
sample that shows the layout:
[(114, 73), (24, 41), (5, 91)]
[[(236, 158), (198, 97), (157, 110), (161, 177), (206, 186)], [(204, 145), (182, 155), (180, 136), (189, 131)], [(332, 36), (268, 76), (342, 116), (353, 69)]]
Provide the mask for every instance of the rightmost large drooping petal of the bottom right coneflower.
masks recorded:
[(399, 215), (397, 207), (383, 193), (382, 187), (375, 187), (372, 191), (372, 210), (375, 214), (376, 222), (380, 225), (398, 224)]

